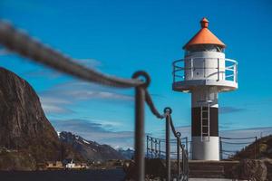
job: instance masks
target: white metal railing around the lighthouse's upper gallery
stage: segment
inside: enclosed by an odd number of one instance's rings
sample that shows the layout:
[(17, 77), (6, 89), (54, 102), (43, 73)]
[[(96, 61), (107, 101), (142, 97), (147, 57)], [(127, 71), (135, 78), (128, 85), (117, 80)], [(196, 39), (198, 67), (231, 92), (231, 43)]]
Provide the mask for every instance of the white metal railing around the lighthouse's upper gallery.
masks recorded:
[[(205, 66), (206, 60), (215, 59), (215, 61), (218, 61), (218, 66), (214, 68), (209, 68)], [(196, 67), (194, 66), (195, 61), (203, 61), (203, 67)], [(189, 68), (185, 68), (185, 62), (190, 63)], [(220, 67), (221, 61), (225, 61), (225, 68)], [(174, 61), (172, 63), (173, 66), (173, 82), (176, 81), (189, 81), (189, 80), (197, 80), (194, 76), (195, 70), (203, 70), (204, 77), (206, 74), (206, 70), (214, 69), (217, 73), (217, 81), (235, 81), (238, 82), (238, 62), (231, 60), (231, 59), (222, 59), (222, 58), (189, 58), (189, 59), (180, 59), (177, 61)], [(185, 71), (190, 71), (190, 77), (187, 77), (185, 80)], [(225, 76), (220, 76), (221, 74), (224, 74)], [(210, 79), (209, 79), (210, 80)]]

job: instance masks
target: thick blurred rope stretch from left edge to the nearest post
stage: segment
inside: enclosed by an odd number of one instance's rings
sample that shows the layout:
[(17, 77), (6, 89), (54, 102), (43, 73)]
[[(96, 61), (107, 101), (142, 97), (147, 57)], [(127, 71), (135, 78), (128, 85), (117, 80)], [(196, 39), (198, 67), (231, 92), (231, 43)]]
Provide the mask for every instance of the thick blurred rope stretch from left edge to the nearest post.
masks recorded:
[(63, 71), (85, 81), (92, 81), (103, 85), (131, 88), (143, 84), (138, 79), (121, 79), (102, 74), (77, 64), (72, 58), (39, 43), (22, 31), (16, 30), (11, 24), (0, 22), (0, 43), (7, 49), (26, 58), (49, 66), (57, 71)]

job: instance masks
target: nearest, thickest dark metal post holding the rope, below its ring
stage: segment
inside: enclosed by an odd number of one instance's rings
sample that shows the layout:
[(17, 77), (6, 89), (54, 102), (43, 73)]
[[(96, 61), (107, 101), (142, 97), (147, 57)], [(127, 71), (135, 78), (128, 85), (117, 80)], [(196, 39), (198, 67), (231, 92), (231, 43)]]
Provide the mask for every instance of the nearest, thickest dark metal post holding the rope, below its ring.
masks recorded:
[(135, 88), (135, 167), (136, 181), (144, 181), (144, 100), (145, 90)]

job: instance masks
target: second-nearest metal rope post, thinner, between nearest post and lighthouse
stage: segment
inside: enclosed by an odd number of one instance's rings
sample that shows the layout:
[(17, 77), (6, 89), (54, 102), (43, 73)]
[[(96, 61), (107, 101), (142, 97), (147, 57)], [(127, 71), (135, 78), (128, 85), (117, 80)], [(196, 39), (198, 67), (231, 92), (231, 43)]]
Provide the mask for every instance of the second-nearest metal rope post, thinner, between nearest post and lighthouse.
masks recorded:
[(170, 181), (170, 116), (165, 121), (165, 152), (166, 152), (166, 181)]

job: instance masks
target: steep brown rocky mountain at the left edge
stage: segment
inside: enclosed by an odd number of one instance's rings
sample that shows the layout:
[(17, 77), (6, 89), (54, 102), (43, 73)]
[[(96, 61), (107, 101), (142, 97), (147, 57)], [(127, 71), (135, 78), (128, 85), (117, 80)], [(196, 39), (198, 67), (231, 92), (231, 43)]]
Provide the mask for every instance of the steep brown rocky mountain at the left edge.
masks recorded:
[(65, 157), (81, 159), (59, 140), (31, 85), (0, 67), (0, 170), (33, 170)]

